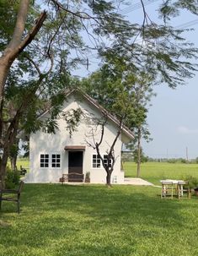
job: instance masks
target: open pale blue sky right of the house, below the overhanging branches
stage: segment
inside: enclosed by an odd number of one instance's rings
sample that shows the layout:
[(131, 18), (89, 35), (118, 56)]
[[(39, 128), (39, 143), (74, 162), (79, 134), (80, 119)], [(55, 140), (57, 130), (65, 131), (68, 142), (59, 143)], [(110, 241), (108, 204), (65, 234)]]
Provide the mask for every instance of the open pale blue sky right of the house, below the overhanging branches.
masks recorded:
[(198, 157), (198, 76), (173, 90), (156, 88), (157, 96), (149, 108), (147, 123), (153, 140), (142, 143), (153, 158)]

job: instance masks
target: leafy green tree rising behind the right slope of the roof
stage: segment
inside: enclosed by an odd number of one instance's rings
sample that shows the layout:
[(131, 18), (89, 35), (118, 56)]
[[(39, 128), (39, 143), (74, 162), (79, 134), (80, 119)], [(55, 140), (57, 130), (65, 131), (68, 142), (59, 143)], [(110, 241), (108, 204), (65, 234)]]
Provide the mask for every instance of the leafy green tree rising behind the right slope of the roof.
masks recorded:
[[(123, 117), (127, 108), (127, 115), (122, 122), (130, 128), (135, 139), (131, 142), (136, 148), (137, 171), (136, 177), (140, 177), (140, 166), (142, 162), (141, 140), (150, 139), (147, 129), (147, 108), (153, 93), (153, 79), (144, 72), (132, 74), (119, 73), (119, 66), (116, 74), (110, 74), (109, 66), (104, 65), (99, 71), (92, 74), (88, 79), (83, 79), (83, 87), (87, 93), (92, 95), (99, 104), (107, 108), (115, 117)], [(124, 77), (125, 76), (125, 77)], [(124, 79), (123, 79), (124, 77)], [(131, 144), (128, 147), (131, 147)]]

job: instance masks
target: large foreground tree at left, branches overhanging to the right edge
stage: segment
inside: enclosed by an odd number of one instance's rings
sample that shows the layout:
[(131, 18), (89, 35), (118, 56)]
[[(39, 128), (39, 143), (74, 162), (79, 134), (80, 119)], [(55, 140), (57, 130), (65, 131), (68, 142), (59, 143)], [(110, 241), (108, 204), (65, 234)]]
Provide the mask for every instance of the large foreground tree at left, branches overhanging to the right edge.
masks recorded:
[[(164, 81), (171, 87), (182, 83), (195, 71), (186, 59), (195, 57), (197, 49), (181, 37), (182, 30), (174, 30), (168, 23), (169, 18), (184, 8), (197, 14), (198, 3), (195, 0), (164, 2), (159, 8), (164, 25), (150, 21), (142, 0), (143, 19), (140, 25), (131, 25), (118, 14), (117, 1), (76, 0), (66, 3), (63, 0), (45, 0), (42, 3), (47, 11), (43, 12), (36, 3), (40, 1), (8, 3), (2, 0), (0, 3), (2, 181), (9, 151), (19, 129), (31, 131), (29, 123), (33, 123), (35, 131), (46, 123), (49, 131), (54, 132), (63, 98), (58, 91), (67, 81), (64, 74), (70, 74), (71, 67), (77, 63), (89, 66), (86, 49), (96, 49), (99, 56), (108, 61), (112, 72), (116, 66), (120, 67), (120, 74), (125, 74), (129, 67), (133, 74), (146, 68), (156, 83)], [(89, 41), (83, 43), (84, 33)], [(143, 44), (136, 41), (137, 38), (142, 39)], [(105, 46), (105, 41), (108, 41), (108, 46)], [(173, 44), (174, 41), (179, 41), (179, 44)], [(75, 52), (76, 57), (72, 57)], [(14, 112), (10, 114), (8, 105), (13, 101)], [(54, 111), (49, 120), (41, 123), (36, 119), (39, 105), (45, 109), (46, 105), (49, 107), (48, 101), (55, 106)]]

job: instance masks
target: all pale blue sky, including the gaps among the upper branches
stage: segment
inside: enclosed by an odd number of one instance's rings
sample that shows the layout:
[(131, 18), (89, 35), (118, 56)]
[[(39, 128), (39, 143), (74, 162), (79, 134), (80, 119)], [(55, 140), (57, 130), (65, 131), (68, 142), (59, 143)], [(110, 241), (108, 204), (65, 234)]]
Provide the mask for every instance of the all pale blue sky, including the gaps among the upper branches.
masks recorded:
[[(132, 4), (123, 8), (122, 14), (134, 22), (135, 17), (142, 17), (140, 1), (131, 1)], [(147, 3), (147, 13), (153, 20), (156, 18), (155, 10), (160, 0), (144, 0)], [(130, 3), (130, 1), (129, 1)], [(136, 15), (134, 15), (136, 12)], [(132, 20), (133, 19), (133, 20)], [(191, 25), (190, 25), (190, 23)], [(189, 23), (189, 25), (187, 24)], [(182, 14), (174, 19), (174, 25), (194, 28), (186, 34), (189, 41), (198, 47), (198, 19), (190, 14)], [(91, 62), (96, 68), (97, 60)], [(87, 74), (91, 73), (91, 69)], [(82, 71), (81, 71), (82, 72)], [(198, 74), (193, 79), (186, 80), (185, 85), (179, 85), (175, 90), (161, 84), (154, 88), (157, 96), (152, 100), (152, 106), (147, 115), (147, 124), (151, 133), (152, 141), (142, 141), (142, 148), (146, 155), (153, 158), (188, 158), (198, 157)]]

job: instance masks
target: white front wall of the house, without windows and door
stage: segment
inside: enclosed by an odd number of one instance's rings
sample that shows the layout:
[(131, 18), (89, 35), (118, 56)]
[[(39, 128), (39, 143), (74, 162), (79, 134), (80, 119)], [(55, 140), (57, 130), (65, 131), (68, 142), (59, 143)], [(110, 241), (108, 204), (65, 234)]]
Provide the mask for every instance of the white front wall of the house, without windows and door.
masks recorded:
[[(99, 111), (95, 109), (88, 101), (76, 101), (73, 95), (64, 103), (63, 111), (66, 112), (71, 109), (80, 107), (83, 112), (89, 112), (94, 117), (101, 118)], [(44, 116), (45, 117), (45, 116)], [(59, 182), (62, 173), (68, 172), (68, 151), (64, 150), (67, 145), (84, 145), (86, 149), (83, 151), (83, 173), (90, 172), (90, 179), (92, 183), (105, 183), (106, 172), (104, 168), (92, 167), (92, 155), (96, 155), (96, 150), (88, 146), (88, 143), (93, 143), (92, 138), (88, 138), (88, 132), (91, 128), (96, 128), (95, 125), (88, 125), (87, 123), (80, 123), (78, 131), (72, 133), (70, 138), (67, 131), (67, 123), (63, 119), (58, 120), (59, 130), (56, 134), (49, 134), (37, 132), (30, 134), (29, 139), (29, 161), (30, 172), (26, 177), (26, 182)], [(100, 138), (100, 132), (97, 131), (98, 136), (94, 139), (97, 141)], [(110, 145), (115, 139), (117, 128), (114, 123), (108, 122), (104, 128), (104, 139), (100, 146), (101, 155), (106, 155), (106, 151), (110, 149)], [(120, 152), (121, 140), (118, 139), (115, 144), (115, 166), (112, 173), (112, 182), (117, 179), (117, 183), (124, 182), (124, 172), (120, 172)], [(61, 154), (60, 168), (40, 168), (40, 154)]]

